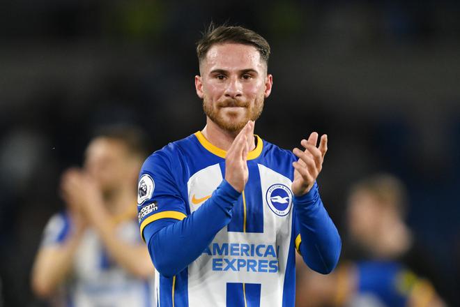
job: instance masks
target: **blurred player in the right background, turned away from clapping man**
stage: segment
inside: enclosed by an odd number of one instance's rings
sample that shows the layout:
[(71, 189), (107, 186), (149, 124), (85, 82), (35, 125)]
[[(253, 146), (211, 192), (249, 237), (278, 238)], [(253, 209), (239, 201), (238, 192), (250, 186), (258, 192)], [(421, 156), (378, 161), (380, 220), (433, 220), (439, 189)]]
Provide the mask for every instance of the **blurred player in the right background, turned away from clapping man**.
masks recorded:
[(346, 211), (348, 261), (330, 276), (299, 266), (297, 306), (445, 306), (434, 287), (442, 281), (405, 214), (406, 190), (397, 178), (378, 174), (355, 184)]

